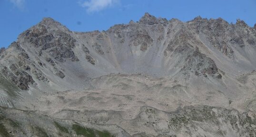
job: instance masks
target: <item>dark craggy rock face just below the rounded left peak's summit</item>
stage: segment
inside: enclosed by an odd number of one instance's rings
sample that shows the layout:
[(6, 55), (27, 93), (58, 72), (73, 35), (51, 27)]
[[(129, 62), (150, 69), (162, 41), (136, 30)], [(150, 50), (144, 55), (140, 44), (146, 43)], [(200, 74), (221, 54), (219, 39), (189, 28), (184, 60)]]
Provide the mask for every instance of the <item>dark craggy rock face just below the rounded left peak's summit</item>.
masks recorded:
[(46, 18), (37, 26), (22, 33), (20, 37), (24, 37), (25, 42), (37, 47), (40, 51), (39, 56), (43, 51), (49, 53), (49, 55), (60, 62), (65, 62), (66, 58), (72, 61), (79, 61), (72, 51), (76, 40), (63, 31), (56, 30), (52, 32), (50, 27), (54, 26), (52, 24), (58, 25), (59, 23)]

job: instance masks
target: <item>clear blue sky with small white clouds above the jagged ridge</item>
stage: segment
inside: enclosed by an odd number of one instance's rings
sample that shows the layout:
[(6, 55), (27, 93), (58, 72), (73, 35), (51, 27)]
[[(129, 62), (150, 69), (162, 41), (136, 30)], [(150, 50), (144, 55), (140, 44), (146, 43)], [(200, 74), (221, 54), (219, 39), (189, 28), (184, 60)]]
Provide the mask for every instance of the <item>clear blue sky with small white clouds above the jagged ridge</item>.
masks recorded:
[(145, 12), (182, 21), (197, 16), (256, 23), (256, 0), (0, 0), (0, 47), (8, 47), (24, 30), (51, 17), (72, 31), (107, 30), (138, 21)]

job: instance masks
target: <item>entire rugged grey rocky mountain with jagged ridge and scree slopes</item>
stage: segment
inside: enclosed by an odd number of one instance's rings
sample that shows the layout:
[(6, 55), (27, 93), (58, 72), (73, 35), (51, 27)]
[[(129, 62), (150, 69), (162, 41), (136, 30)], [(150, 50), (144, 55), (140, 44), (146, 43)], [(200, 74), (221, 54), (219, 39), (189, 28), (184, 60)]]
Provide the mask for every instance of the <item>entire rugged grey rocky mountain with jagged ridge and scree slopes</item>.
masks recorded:
[(256, 137), (255, 53), (239, 19), (43, 18), (0, 49), (0, 136)]

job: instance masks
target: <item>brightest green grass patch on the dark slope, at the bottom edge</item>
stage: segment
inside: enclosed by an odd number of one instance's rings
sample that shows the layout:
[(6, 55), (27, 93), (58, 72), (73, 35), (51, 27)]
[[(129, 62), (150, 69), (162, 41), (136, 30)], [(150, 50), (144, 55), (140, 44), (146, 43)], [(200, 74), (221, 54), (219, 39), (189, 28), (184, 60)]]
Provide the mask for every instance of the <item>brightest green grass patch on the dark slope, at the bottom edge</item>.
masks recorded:
[(77, 135), (83, 135), (85, 137), (114, 137), (108, 131), (99, 131), (91, 128), (84, 128), (79, 125), (73, 125), (72, 129), (75, 130)]

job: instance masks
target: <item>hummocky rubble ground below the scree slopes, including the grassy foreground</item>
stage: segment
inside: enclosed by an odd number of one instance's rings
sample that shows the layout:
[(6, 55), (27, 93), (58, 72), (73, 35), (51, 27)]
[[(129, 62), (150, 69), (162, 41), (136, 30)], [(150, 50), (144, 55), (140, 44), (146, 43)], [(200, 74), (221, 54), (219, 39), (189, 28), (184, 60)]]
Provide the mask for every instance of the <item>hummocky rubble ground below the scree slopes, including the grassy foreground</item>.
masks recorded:
[[(2, 137), (256, 137), (256, 113), (223, 93), (169, 78), (106, 75), (81, 91), (38, 94), (23, 110), (0, 108)], [(217, 98), (219, 98), (218, 101)], [(78, 129), (76, 129), (78, 128)]]

